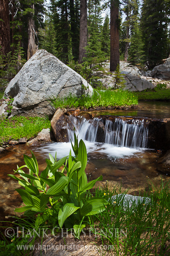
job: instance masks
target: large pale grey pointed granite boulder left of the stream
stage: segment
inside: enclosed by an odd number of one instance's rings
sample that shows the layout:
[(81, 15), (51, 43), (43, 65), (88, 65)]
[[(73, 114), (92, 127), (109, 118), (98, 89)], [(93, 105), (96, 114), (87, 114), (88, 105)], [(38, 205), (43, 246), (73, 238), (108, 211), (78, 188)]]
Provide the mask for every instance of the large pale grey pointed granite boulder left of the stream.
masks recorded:
[(51, 97), (92, 93), (93, 88), (70, 67), (46, 50), (38, 50), (5, 90), (14, 98), (11, 115), (53, 116)]

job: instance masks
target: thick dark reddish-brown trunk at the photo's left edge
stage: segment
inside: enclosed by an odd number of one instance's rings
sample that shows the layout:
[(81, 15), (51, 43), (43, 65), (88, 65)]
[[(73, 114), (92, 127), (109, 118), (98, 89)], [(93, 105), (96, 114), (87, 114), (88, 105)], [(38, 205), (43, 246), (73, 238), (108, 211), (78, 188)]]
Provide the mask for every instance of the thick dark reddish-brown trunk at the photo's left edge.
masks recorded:
[(0, 0), (0, 51), (7, 55), (10, 51), (9, 1)]

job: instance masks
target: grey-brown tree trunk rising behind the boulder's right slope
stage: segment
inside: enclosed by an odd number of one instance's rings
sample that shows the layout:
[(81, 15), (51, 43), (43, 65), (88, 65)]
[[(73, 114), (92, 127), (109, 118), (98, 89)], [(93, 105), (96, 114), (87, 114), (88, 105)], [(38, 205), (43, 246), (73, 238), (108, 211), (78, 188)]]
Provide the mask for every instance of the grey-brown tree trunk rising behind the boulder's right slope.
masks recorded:
[(86, 57), (87, 46), (87, 0), (80, 0), (80, 42), (79, 42), (79, 63), (83, 63)]

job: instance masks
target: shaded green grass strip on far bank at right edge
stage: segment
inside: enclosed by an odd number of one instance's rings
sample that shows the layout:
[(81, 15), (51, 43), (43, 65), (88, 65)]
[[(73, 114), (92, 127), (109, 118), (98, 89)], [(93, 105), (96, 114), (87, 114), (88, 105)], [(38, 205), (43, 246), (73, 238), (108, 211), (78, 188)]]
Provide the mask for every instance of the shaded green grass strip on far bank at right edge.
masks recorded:
[(154, 89), (142, 92), (135, 92), (138, 100), (170, 100), (170, 89)]

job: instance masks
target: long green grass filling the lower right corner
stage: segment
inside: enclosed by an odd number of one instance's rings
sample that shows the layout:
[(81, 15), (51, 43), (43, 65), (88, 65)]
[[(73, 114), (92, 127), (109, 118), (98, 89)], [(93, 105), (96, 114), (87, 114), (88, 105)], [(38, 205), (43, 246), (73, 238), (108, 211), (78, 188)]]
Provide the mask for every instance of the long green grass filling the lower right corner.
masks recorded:
[[(115, 256), (169, 256), (169, 185), (169, 182), (163, 183), (163, 181), (159, 188), (151, 185), (150, 191), (145, 194), (151, 199), (151, 203), (141, 202), (131, 207), (123, 206), (124, 194), (114, 203), (111, 201), (112, 194), (118, 193), (115, 187), (113, 192), (96, 189), (95, 196), (103, 196), (109, 201), (109, 205), (106, 211), (98, 214), (97, 220), (93, 218), (89, 223), (92, 231), (101, 237), (102, 244), (112, 245)], [(120, 187), (118, 190), (121, 193)], [(117, 235), (115, 230), (118, 231)]]

